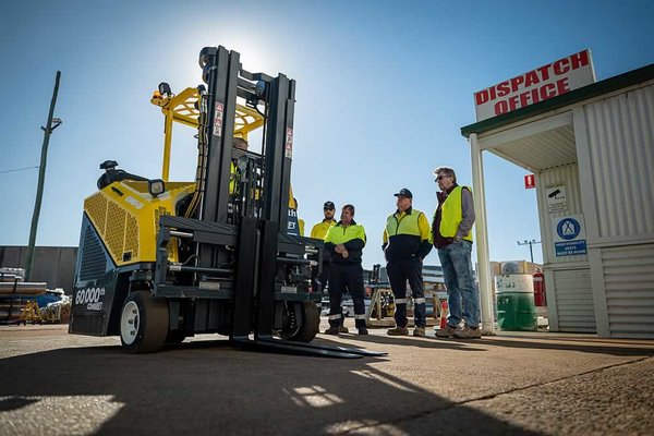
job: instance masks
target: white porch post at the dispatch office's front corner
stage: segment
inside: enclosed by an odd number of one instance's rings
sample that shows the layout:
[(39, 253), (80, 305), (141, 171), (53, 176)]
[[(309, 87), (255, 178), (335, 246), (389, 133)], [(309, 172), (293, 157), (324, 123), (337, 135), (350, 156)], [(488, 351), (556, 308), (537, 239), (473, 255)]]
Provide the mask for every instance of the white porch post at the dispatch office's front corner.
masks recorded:
[(476, 133), (470, 134), (472, 158), (472, 192), (476, 222), (475, 242), (477, 249), (477, 279), (480, 283), (480, 308), (482, 310), (482, 334), (495, 334), (493, 315), (493, 288), (491, 261), (488, 255), (488, 231), (486, 223), (486, 194), (484, 191), (484, 161)]

